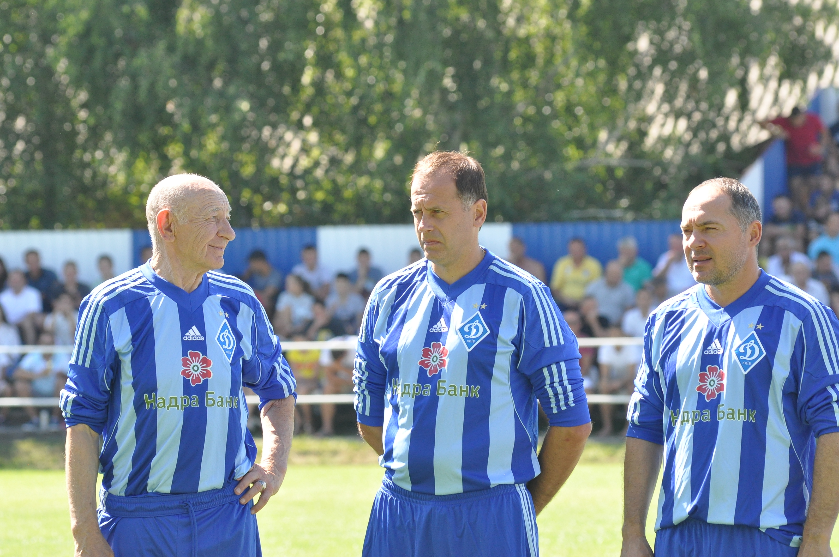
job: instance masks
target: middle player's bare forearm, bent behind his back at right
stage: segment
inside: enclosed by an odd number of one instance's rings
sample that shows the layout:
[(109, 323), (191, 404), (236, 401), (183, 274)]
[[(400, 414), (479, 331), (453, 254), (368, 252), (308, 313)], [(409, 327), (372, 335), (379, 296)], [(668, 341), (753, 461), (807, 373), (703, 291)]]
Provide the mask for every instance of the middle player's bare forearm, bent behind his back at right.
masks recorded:
[(541, 472), (527, 486), (533, 497), (536, 514), (542, 512), (556, 492), (560, 491), (568, 476), (571, 476), (590, 433), (591, 424), (548, 428), (542, 450), (539, 451)]

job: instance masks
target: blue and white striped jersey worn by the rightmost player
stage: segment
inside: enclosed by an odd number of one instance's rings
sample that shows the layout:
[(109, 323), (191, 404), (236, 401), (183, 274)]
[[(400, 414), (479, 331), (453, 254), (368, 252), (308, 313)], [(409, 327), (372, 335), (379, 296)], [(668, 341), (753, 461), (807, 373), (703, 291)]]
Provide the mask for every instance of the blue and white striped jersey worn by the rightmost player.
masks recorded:
[(767, 273), (725, 308), (698, 284), (649, 316), (628, 436), (664, 445), (656, 528), (690, 517), (800, 544), (816, 437), (839, 431), (837, 329)]

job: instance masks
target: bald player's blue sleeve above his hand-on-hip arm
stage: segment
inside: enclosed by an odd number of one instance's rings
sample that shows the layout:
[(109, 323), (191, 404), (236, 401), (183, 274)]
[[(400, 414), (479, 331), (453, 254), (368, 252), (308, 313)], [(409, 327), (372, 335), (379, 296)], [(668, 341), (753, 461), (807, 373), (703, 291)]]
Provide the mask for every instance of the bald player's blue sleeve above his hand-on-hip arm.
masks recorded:
[(253, 354), (249, 360), (242, 362), (242, 383), (258, 395), (261, 410), (271, 400), (290, 396), (297, 398), (297, 393), (294, 392), (297, 383), (289, 362), (283, 357), (282, 347), (274, 335), (268, 315), (257, 299), (254, 298), (253, 301), (254, 305), (248, 306), (254, 314), (250, 331)]

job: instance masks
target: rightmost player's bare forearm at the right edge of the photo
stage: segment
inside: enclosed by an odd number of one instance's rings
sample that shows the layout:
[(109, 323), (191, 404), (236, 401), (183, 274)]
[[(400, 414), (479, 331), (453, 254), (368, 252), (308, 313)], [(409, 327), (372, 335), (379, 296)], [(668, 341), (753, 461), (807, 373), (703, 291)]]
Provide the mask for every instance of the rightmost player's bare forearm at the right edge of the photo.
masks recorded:
[(813, 492), (804, 523), (801, 554), (815, 547), (829, 547), (839, 514), (839, 433), (822, 435), (816, 441)]

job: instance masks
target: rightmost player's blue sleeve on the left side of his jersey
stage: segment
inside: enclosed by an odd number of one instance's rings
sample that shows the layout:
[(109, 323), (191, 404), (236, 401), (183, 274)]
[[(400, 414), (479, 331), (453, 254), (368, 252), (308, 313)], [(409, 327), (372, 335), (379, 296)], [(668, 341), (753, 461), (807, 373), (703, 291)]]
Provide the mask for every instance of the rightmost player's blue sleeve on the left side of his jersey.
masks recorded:
[(651, 349), (654, 329), (655, 314), (652, 314), (644, 327), (644, 353), (627, 409), (627, 437), (664, 445), (664, 390)]

